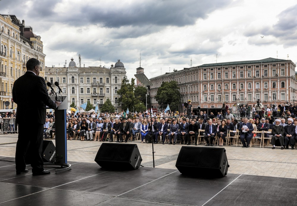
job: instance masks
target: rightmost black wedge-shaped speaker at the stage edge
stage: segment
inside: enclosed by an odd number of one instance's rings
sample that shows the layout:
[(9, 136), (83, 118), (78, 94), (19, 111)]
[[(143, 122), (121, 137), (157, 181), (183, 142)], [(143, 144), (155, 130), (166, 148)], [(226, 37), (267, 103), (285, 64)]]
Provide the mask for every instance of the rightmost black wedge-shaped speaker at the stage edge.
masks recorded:
[(182, 146), (176, 168), (184, 175), (196, 177), (224, 177), (228, 172), (225, 148)]

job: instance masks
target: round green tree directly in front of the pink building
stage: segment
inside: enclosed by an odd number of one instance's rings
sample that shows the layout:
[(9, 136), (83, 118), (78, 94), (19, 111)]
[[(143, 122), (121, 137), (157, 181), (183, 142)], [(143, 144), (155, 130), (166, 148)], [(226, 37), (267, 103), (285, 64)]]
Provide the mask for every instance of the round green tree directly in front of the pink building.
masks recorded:
[(161, 87), (157, 90), (155, 99), (160, 105), (161, 109), (165, 109), (169, 104), (171, 111), (178, 111), (180, 106), (181, 93), (176, 81), (162, 82)]

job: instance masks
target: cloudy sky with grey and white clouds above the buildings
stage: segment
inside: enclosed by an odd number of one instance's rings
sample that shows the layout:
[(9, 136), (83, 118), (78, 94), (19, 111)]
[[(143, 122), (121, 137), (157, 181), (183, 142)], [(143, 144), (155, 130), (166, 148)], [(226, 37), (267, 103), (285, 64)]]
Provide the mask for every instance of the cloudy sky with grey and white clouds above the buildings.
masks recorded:
[[(291, 59), (297, 63), (296, 0), (0, 0), (0, 14), (41, 36), (46, 66), (110, 67), (149, 78), (205, 63)], [(264, 36), (261, 38), (261, 36)], [(162, 69), (161, 69), (162, 68)]]

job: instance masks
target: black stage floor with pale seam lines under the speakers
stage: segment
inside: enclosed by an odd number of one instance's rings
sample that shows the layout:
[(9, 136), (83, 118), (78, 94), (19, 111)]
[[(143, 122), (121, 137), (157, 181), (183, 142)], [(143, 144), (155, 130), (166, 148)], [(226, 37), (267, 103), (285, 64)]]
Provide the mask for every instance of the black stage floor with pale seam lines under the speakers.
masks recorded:
[[(14, 158), (0, 157), (14, 161)], [(0, 205), (296, 205), (296, 179), (228, 173), (191, 178), (178, 170), (140, 167), (107, 171), (96, 163), (69, 162), (72, 170), (50, 175), (15, 175), (0, 161)]]

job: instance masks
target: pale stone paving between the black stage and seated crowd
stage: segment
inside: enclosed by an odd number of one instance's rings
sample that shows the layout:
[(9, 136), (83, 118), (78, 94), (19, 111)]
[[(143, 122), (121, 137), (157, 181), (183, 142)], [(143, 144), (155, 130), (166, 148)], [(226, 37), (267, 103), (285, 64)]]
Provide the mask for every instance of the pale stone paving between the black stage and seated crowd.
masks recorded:
[[(17, 139), (17, 134), (0, 135), (0, 156), (15, 157)], [(132, 143), (138, 145), (143, 159), (141, 165), (153, 167), (152, 145), (140, 143), (140, 140)], [(102, 142), (98, 141), (67, 140), (68, 161), (94, 163), (101, 144)], [(154, 144), (155, 167), (176, 169), (176, 159), (181, 146), (179, 144)], [(205, 147), (202, 145), (198, 146)], [(252, 148), (241, 148), (240, 146), (224, 147), (226, 148), (230, 165), (228, 173), (297, 178), (297, 150), (281, 150), (280, 147), (272, 150), (271, 146), (264, 148), (259, 148), (259, 146)]]

